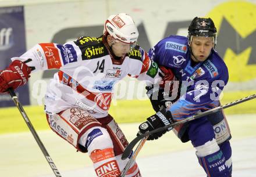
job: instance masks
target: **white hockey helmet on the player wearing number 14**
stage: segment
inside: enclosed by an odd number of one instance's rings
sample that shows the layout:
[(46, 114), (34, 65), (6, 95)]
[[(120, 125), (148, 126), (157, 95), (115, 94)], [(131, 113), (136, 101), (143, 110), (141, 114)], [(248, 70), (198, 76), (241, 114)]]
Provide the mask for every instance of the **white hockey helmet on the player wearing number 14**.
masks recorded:
[(109, 16), (105, 21), (103, 34), (109, 34), (112, 38), (127, 44), (136, 44), (138, 39), (137, 27), (126, 13)]

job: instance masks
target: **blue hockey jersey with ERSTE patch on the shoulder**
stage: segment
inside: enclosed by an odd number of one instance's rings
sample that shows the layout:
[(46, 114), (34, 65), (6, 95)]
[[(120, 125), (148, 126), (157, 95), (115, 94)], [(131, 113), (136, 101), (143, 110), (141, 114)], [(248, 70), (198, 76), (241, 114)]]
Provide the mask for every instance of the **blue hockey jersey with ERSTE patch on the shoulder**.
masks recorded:
[(214, 49), (207, 60), (193, 66), (187, 38), (170, 35), (151, 48), (148, 56), (159, 66), (171, 68), (182, 81), (181, 97), (169, 108), (175, 120), (219, 105), (229, 75), (226, 64)]

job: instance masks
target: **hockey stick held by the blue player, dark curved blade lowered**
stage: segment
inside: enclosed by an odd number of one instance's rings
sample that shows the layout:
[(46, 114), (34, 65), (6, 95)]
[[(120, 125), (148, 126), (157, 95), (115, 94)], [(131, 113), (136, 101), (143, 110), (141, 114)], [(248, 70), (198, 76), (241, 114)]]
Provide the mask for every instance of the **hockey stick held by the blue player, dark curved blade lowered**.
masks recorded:
[(151, 134), (157, 133), (157, 132), (161, 132), (161, 131), (165, 131), (166, 129), (176, 127), (177, 125), (184, 124), (186, 122), (195, 120), (195, 119), (200, 118), (200, 117), (204, 117), (205, 115), (216, 113), (216, 112), (218, 112), (218, 111), (220, 111), (222, 109), (226, 109), (227, 107), (231, 107), (231, 106), (234, 106), (236, 104), (240, 104), (240, 103), (246, 102), (248, 100), (254, 99), (255, 97), (256, 97), (256, 94), (253, 94), (253, 95), (244, 97), (242, 99), (236, 100), (234, 102), (224, 104), (223, 106), (218, 106), (218, 107), (215, 107), (214, 109), (210, 109), (210, 110), (207, 110), (205, 112), (192, 115), (192, 116), (187, 117), (186, 119), (184, 119), (182, 121), (177, 121), (177, 122), (175, 122), (173, 124), (166, 125), (165, 127), (157, 128), (157, 129), (154, 129), (153, 131), (146, 132), (146, 133), (144, 133), (142, 135), (139, 135), (136, 138), (134, 138), (129, 143), (129, 145), (126, 147), (125, 151), (122, 154), (122, 160), (125, 160), (129, 156), (129, 154), (133, 150), (133, 147), (137, 144), (138, 141), (140, 141), (141, 139), (145, 139), (145, 137), (148, 136), (148, 135), (151, 135)]

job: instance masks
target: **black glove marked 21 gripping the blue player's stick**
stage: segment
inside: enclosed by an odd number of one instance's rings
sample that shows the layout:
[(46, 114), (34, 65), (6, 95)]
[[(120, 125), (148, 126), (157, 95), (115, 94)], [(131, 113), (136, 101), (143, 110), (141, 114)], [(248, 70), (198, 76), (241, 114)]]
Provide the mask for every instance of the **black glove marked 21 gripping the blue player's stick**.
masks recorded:
[[(164, 107), (161, 107), (161, 110), (158, 111), (156, 114), (152, 115), (151, 117), (147, 118), (147, 121), (140, 124), (138, 129), (140, 130), (137, 133), (138, 135), (141, 135), (147, 131), (152, 131), (154, 129), (165, 127), (166, 125), (173, 124), (173, 118), (170, 111), (166, 111)], [(158, 133), (154, 133), (150, 136), (148, 136), (147, 140), (154, 140), (160, 138), (164, 133), (167, 131), (170, 131), (172, 128), (169, 128), (168, 130), (161, 131)]]

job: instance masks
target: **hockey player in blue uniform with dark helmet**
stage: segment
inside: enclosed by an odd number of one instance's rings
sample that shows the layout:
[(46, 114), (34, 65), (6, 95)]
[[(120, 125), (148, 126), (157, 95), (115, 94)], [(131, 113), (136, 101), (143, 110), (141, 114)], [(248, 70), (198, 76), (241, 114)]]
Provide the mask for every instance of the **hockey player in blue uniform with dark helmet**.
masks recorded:
[[(163, 89), (159, 89), (158, 99), (154, 100), (152, 88), (147, 88), (157, 113), (140, 125), (141, 133), (219, 106), (219, 97), (229, 75), (226, 64), (214, 49), (215, 45), (214, 21), (195, 17), (187, 37), (170, 35), (150, 49), (148, 55), (151, 59), (159, 66), (171, 68), (182, 86), (179, 99), (171, 104)], [(159, 110), (160, 106), (169, 107)], [(208, 177), (231, 176), (231, 135), (223, 111), (187, 122), (173, 131), (182, 142), (191, 140), (198, 162)], [(165, 132), (150, 135), (148, 140), (158, 139)]]

